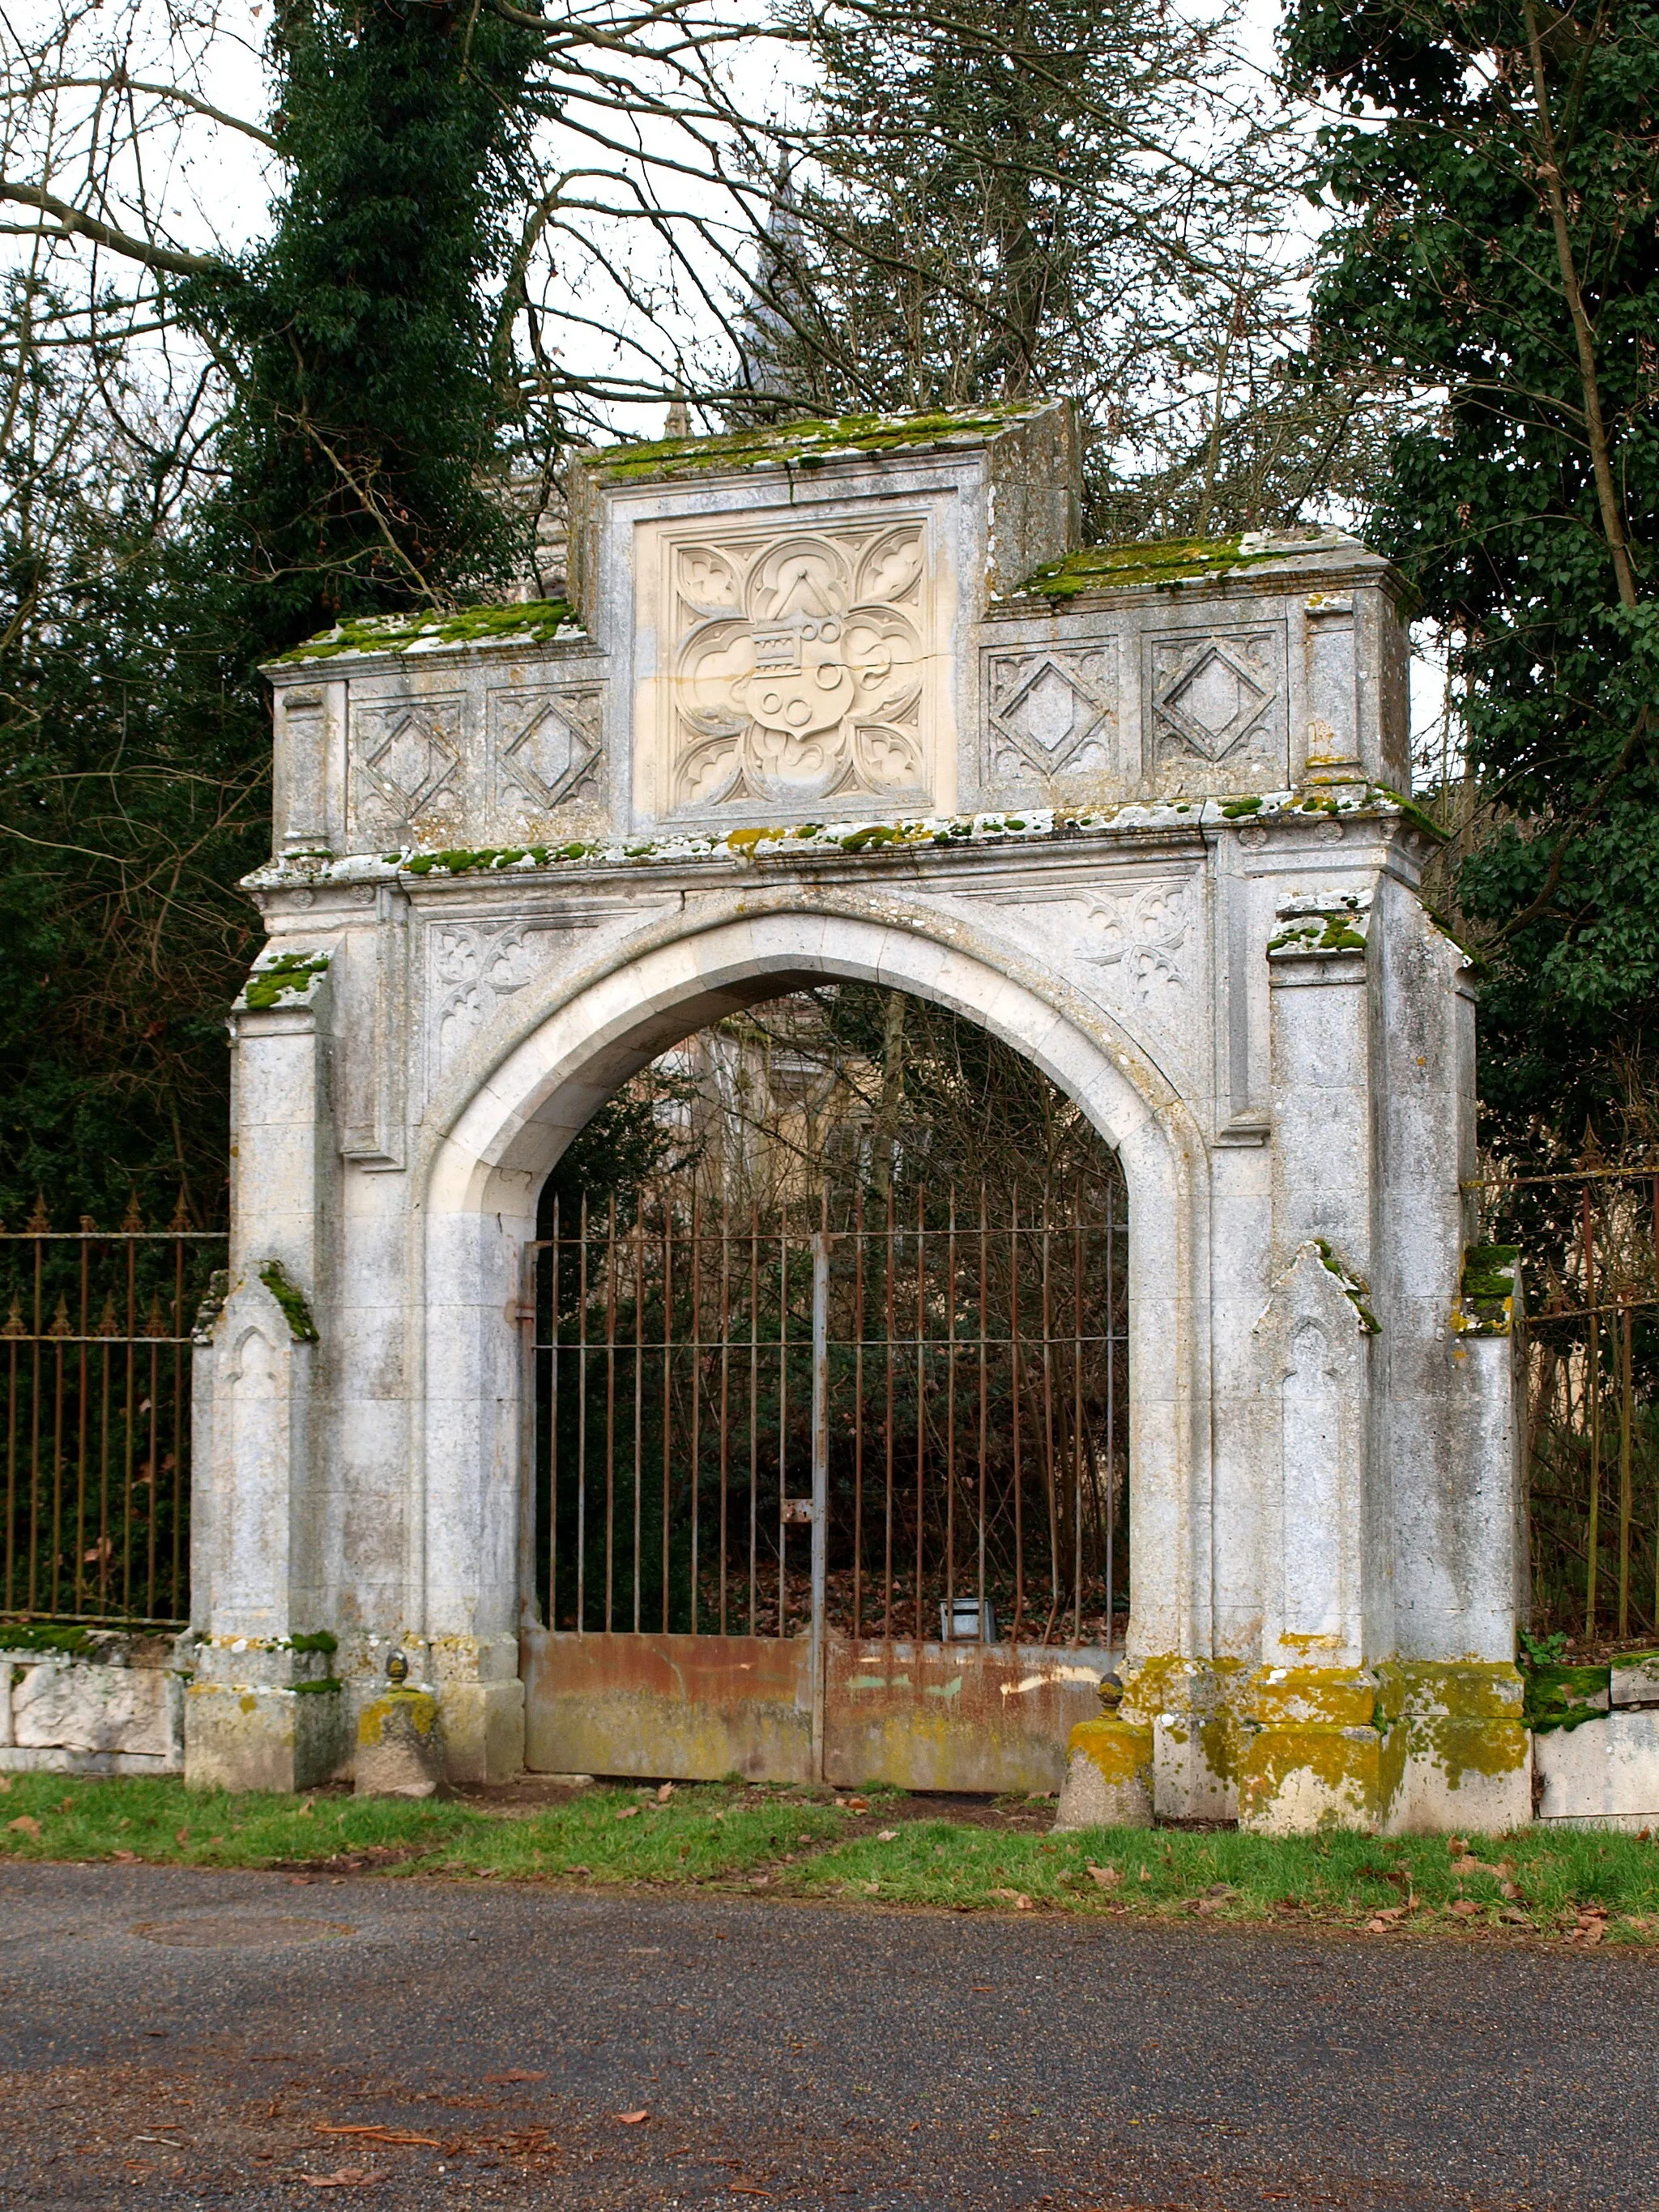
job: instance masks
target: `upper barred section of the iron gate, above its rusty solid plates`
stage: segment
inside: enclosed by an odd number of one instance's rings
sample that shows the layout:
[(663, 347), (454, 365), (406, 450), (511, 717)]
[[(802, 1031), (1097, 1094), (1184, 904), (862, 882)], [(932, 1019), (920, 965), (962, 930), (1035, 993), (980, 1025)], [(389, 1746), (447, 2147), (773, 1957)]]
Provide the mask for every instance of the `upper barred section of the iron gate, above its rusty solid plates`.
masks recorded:
[(549, 1626), (931, 1641), (960, 1606), (984, 1641), (1110, 1641), (1121, 1186), (730, 1212), (681, 1183), (551, 1228), (524, 1303)]

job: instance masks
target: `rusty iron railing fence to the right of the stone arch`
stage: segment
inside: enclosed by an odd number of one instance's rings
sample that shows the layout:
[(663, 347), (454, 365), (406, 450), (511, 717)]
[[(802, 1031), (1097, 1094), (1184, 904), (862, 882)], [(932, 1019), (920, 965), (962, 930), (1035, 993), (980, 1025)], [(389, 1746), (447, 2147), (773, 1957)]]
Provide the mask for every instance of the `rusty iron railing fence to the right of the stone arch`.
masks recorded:
[(1533, 1626), (1659, 1628), (1659, 1166), (1478, 1186), (1520, 1250)]

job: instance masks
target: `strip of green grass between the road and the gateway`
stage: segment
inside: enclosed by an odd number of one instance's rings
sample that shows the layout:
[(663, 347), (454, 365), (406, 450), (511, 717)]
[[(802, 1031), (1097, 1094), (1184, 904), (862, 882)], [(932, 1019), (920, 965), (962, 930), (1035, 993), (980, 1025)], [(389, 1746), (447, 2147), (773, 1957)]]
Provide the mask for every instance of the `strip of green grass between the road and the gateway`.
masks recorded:
[(699, 1783), (595, 1787), (546, 1809), (334, 1792), (226, 1796), (177, 1781), (0, 1776), (0, 1856), (294, 1874), (431, 1874), (759, 1889), (953, 1911), (1192, 1916), (1659, 1947), (1659, 1845), (1522, 1829), (1498, 1838), (998, 1832), (872, 1792)]

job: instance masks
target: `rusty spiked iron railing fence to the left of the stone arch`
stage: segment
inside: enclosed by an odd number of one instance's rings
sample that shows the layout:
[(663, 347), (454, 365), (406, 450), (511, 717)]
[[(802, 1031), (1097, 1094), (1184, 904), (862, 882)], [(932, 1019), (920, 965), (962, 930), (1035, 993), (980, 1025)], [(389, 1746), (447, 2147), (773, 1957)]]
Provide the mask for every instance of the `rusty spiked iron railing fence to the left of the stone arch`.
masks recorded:
[(190, 1321), (226, 1239), (0, 1228), (0, 1617), (184, 1626)]

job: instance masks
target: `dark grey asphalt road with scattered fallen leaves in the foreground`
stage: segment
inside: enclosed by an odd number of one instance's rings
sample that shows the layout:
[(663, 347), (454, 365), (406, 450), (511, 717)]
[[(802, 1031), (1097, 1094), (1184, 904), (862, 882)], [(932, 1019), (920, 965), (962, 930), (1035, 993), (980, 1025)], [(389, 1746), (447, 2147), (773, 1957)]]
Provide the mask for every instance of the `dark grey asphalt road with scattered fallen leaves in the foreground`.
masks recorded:
[(1657, 1997), (1522, 1944), (13, 1863), (0, 2205), (1652, 2212)]

